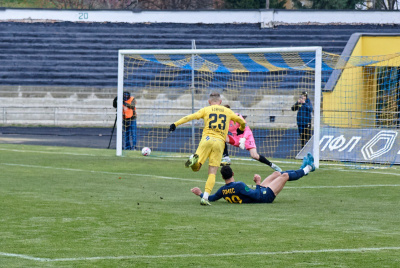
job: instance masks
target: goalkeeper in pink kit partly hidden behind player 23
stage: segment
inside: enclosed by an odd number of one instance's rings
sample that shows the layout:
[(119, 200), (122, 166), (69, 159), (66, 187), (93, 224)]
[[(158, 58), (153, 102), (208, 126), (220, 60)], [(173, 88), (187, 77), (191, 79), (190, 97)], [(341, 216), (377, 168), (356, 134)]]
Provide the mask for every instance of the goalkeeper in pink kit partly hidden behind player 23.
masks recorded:
[[(227, 108), (231, 108), (229, 105), (225, 105), (225, 107)], [(244, 117), (241, 114), (238, 114), (238, 116), (240, 116), (241, 118)], [(253, 132), (251, 131), (249, 126), (246, 126), (246, 128), (244, 129), (244, 133), (238, 135), (237, 133), (237, 129), (238, 129), (239, 125), (233, 121), (229, 122), (229, 132), (232, 135), (229, 135), (226, 137), (226, 142), (228, 142), (229, 144), (235, 146), (235, 147), (239, 147), (240, 149), (244, 150), (246, 149), (247, 151), (249, 151), (251, 158), (260, 161), (261, 163), (264, 163), (268, 166), (270, 166), (272, 169), (281, 172), (282, 169), (280, 167), (278, 167), (277, 165), (275, 165), (274, 163), (270, 162), (267, 158), (265, 158), (265, 156), (260, 155), (257, 153), (257, 146), (254, 140), (254, 136), (253, 136)], [(224, 154), (223, 154), (223, 158), (221, 160), (221, 165), (230, 165), (231, 164), (231, 160), (229, 158), (229, 153), (228, 153), (228, 148), (225, 144), (225, 148), (224, 148)]]

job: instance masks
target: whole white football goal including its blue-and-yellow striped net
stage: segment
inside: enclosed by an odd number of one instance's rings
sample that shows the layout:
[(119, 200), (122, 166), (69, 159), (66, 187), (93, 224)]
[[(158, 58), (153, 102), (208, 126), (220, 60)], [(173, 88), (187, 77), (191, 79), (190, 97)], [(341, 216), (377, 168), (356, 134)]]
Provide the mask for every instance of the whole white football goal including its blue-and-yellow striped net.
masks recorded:
[[(168, 127), (207, 106), (209, 93), (218, 91), (223, 105), (247, 116), (259, 153), (293, 159), (301, 148), (296, 112), (290, 106), (307, 91), (314, 107), (312, 151), (319, 166), (321, 47), (123, 49), (118, 53), (117, 156), (125, 152), (124, 91), (137, 101), (136, 147), (150, 147), (156, 155), (193, 152), (202, 122), (184, 125), (171, 136)], [(230, 146), (229, 150), (233, 156), (249, 157), (237, 148)]]

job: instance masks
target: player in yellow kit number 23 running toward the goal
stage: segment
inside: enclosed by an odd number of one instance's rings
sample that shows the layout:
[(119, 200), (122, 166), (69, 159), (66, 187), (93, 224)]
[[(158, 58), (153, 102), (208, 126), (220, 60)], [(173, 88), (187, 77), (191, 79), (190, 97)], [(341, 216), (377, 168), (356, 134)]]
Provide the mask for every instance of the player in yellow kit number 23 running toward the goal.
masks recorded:
[(246, 127), (246, 122), (243, 118), (237, 116), (231, 109), (221, 106), (221, 102), (222, 99), (219, 93), (212, 92), (208, 99), (210, 106), (179, 119), (169, 127), (169, 131), (174, 131), (177, 126), (194, 119), (204, 120), (203, 135), (196, 153), (185, 163), (186, 167), (191, 167), (193, 171), (199, 171), (208, 158), (208, 178), (205, 193), (200, 201), (200, 204), (204, 206), (210, 205), (208, 196), (214, 187), (215, 175), (221, 164), (229, 122), (232, 120), (240, 124), (238, 128), (239, 133), (243, 133)]

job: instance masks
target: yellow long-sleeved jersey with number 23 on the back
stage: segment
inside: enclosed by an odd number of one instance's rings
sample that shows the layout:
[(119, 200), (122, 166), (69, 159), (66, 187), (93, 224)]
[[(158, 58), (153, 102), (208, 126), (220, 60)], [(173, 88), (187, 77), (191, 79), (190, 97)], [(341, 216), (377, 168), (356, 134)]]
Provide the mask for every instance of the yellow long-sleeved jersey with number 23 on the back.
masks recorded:
[(203, 137), (210, 136), (221, 139), (224, 142), (228, 135), (229, 122), (231, 120), (240, 124), (240, 130), (244, 131), (246, 127), (246, 121), (244, 121), (243, 118), (236, 115), (231, 109), (222, 105), (210, 105), (204, 107), (194, 114), (179, 119), (174, 124), (179, 126), (194, 119), (199, 120), (201, 118), (204, 120)]

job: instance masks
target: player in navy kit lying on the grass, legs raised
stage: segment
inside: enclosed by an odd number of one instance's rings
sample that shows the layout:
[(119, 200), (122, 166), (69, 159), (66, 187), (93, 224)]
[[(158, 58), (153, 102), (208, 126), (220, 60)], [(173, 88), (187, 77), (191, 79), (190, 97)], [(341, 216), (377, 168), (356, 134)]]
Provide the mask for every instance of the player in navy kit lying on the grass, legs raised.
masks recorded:
[[(221, 168), (222, 178), (225, 185), (208, 197), (209, 201), (217, 201), (224, 198), (229, 203), (272, 203), (275, 197), (283, 189), (287, 181), (295, 181), (315, 170), (314, 157), (308, 153), (303, 159), (303, 164), (299, 170), (288, 170), (284, 172), (274, 171), (263, 182), (258, 174), (254, 175), (256, 189), (250, 189), (244, 182), (236, 182), (233, 178), (233, 171), (230, 166)], [(195, 195), (203, 196), (200, 188), (195, 187), (191, 190)]]

